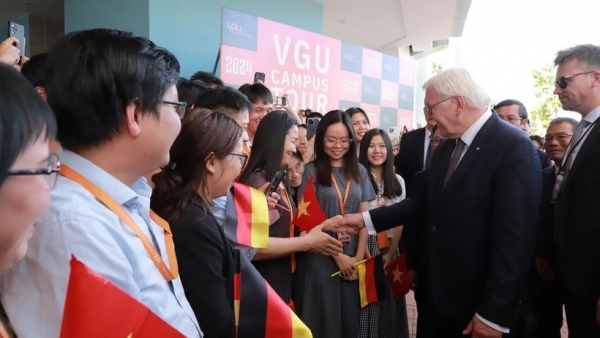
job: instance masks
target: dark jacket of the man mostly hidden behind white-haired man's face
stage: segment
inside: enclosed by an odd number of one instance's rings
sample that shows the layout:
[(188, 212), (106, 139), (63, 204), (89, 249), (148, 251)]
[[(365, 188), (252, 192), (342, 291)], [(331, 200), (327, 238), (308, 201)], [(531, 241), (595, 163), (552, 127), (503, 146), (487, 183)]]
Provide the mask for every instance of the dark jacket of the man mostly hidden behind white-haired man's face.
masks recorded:
[(394, 161), (396, 174), (402, 176), (406, 186), (407, 196), (414, 190), (413, 177), (423, 170), (425, 153), (425, 128), (415, 129), (402, 134), (400, 153)]

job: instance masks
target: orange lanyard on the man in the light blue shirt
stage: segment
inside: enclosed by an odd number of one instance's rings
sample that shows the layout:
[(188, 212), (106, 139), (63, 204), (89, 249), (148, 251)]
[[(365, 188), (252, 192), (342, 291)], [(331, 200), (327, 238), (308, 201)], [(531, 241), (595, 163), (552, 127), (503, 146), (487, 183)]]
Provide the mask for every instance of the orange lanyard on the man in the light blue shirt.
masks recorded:
[(169, 269), (148, 237), (135, 224), (131, 218), (131, 215), (129, 215), (127, 211), (125, 211), (125, 209), (119, 203), (117, 203), (117, 201), (115, 201), (114, 198), (110, 197), (106, 192), (104, 192), (104, 190), (100, 189), (94, 183), (90, 182), (90, 180), (83, 177), (80, 173), (69, 168), (63, 163), (60, 165), (60, 174), (81, 185), (87, 191), (92, 193), (92, 195), (94, 195), (100, 202), (102, 202), (102, 204), (110, 209), (110, 211), (115, 213), (115, 215), (117, 215), (123, 223), (127, 224), (127, 226), (133, 230), (133, 232), (142, 241), (146, 252), (148, 252), (148, 255), (150, 255), (154, 265), (156, 265), (158, 271), (160, 271), (160, 274), (165, 280), (171, 281), (177, 278), (179, 274), (179, 268), (177, 266), (177, 258), (175, 257), (175, 248), (173, 246), (173, 234), (171, 233), (171, 228), (169, 227), (169, 223), (167, 223), (167, 221), (155, 214), (154, 211), (150, 210), (150, 218), (165, 232), (165, 247), (167, 248), (167, 254), (169, 256), (169, 262), (171, 263), (172, 269)]

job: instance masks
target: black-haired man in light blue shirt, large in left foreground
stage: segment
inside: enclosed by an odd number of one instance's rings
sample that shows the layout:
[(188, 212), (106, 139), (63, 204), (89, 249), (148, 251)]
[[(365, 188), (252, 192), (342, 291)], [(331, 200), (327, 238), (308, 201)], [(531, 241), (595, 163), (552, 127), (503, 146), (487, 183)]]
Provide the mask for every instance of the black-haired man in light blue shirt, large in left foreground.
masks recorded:
[[(115, 200), (141, 233), (79, 180), (59, 177), (26, 258), (0, 278), (15, 332), (59, 336), (74, 254), (186, 337), (202, 337), (169, 261), (165, 232), (150, 217), (151, 189), (142, 177), (168, 164), (181, 128), (185, 105), (177, 102), (177, 59), (145, 38), (97, 29), (65, 36), (50, 55), (49, 74), (46, 90), (63, 167)], [(175, 278), (161, 273), (140, 237)]]

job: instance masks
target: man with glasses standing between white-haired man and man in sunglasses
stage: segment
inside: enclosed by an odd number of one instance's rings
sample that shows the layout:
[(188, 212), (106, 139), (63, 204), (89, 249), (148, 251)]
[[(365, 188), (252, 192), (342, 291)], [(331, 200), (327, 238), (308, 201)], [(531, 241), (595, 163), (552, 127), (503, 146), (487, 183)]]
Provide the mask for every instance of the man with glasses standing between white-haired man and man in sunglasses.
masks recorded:
[(554, 203), (552, 190), (565, 151), (571, 142), (577, 121), (559, 117), (548, 125), (544, 147), (554, 166), (544, 169), (542, 205), (535, 253), (535, 314), (537, 337), (560, 338), (563, 325), (564, 291), (558, 267), (554, 237)]

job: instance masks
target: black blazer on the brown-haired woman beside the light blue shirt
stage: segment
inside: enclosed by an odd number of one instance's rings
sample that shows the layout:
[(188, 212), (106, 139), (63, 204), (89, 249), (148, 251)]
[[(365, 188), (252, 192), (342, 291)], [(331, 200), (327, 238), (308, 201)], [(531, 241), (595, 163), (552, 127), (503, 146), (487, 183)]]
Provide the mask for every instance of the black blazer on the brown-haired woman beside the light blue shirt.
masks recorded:
[(171, 225), (185, 297), (205, 337), (235, 337), (234, 260), (225, 233), (211, 212), (194, 205)]

